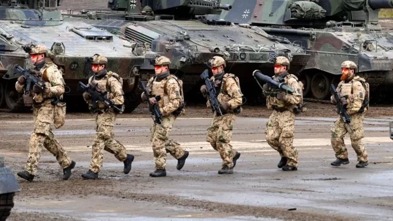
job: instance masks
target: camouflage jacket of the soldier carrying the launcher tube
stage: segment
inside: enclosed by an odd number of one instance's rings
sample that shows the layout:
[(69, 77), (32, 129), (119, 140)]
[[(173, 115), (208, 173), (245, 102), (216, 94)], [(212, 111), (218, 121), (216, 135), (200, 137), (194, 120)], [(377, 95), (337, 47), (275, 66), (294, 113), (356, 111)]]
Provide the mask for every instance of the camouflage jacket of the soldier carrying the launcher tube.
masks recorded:
[[(268, 110), (283, 108), (293, 112), (294, 106), (299, 104), (301, 101), (301, 90), (303, 88), (300, 88), (297, 77), (286, 73), (284, 73), (284, 75), (285, 77), (283, 78), (283, 83), (286, 83), (288, 86), (292, 87), (294, 92), (293, 94), (286, 94), (288, 98), (286, 101), (281, 101), (277, 99), (275, 94), (274, 96), (273, 94), (268, 94), (266, 96), (266, 106)], [(279, 79), (276, 76), (273, 76), (273, 80), (279, 82)]]

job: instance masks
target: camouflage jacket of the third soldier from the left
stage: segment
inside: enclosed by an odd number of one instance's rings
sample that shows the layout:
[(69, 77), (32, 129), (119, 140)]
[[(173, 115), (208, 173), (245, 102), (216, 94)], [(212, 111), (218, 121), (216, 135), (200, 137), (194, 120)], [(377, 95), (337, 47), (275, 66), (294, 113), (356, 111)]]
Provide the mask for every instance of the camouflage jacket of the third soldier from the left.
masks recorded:
[(166, 78), (158, 80), (150, 78), (146, 88), (151, 90), (152, 96), (160, 96), (158, 101), (161, 113), (166, 116), (176, 111), (181, 105), (180, 85), (176, 76), (169, 74)]

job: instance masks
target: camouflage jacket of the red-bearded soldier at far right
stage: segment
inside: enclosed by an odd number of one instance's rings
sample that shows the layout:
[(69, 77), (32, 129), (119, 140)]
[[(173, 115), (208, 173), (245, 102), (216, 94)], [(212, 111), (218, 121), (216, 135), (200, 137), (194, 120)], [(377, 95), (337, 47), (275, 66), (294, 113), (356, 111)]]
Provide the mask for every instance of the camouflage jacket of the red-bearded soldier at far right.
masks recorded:
[[(347, 112), (350, 115), (358, 113), (365, 100), (366, 91), (362, 81), (365, 82), (365, 79), (355, 76), (348, 83), (345, 83), (345, 81), (338, 83), (337, 92), (340, 93), (341, 96), (346, 97), (348, 103)], [(330, 99), (333, 102), (334, 96), (331, 96)], [(365, 109), (363, 112), (366, 111)]]

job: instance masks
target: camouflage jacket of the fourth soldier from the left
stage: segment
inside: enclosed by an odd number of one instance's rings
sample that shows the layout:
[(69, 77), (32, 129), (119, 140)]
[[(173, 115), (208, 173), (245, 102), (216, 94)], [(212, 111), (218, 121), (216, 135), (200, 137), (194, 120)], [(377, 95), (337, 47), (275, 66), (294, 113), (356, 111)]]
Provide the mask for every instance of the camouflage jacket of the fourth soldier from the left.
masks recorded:
[[(221, 104), (225, 102), (228, 103), (231, 110), (242, 105), (243, 93), (235, 75), (225, 73), (222, 80), (216, 80), (214, 76), (212, 76), (210, 80), (214, 82), (215, 85), (221, 83), (220, 91), (218, 91), (217, 95), (217, 100)], [(209, 100), (207, 100), (207, 107), (210, 107)]]

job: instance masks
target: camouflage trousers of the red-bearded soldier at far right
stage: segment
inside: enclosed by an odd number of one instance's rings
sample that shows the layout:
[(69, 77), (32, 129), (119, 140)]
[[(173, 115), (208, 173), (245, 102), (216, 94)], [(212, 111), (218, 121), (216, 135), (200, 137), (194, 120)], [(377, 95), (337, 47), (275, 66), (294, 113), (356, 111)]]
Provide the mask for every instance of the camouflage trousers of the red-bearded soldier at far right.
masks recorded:
[(362, 138), (365, 137), (363, 130), (363, 120), (364, 114), (355, 113), (351, 115), (351, 127), (353, 132), (351, 133), (349, 126), (344, 123), (344, 121), (339, 117), (335, 124), (332, 126), (332, 146), (333, 150), (336, 152), (336, 157), (341, 159), (348, 158), (348, 151), (345, 147), (344, 136), (349, 133), (351, 138), (352, 148), (355, 150), (358, 161), (366, 162), (368, 161), (367, 151), (365, 145), (362, 142)]

